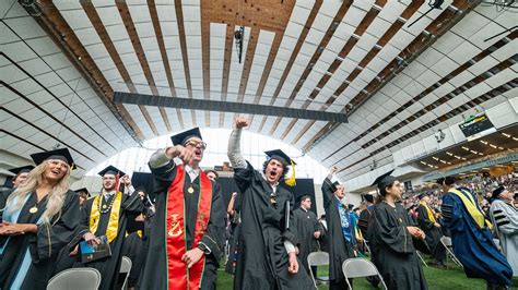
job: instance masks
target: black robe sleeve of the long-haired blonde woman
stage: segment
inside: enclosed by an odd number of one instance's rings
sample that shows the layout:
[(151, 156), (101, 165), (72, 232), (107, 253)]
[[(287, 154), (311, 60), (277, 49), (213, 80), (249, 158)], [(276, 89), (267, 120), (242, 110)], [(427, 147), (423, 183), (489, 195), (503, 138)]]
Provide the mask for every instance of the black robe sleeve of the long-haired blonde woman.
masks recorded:
[(58, 214), (50, 223), (37, 225), (36, 234), (30, 235), (33, 263), (37, 264), (57, 254), (73, 238), (79, 228), (79, 196), (75, 192), (69, 191), (64, 197), (61, 214)]

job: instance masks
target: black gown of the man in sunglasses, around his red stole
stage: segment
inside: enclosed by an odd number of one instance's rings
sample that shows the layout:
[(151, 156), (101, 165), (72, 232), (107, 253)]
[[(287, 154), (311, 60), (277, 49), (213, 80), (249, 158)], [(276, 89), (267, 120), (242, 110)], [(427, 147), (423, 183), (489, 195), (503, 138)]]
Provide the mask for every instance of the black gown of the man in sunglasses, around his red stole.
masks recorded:
[[(155, 216), (153, 227), (150, 229), (150, 247), (149, 255), (145, 259), (145, 266), (142, 271), (141, 281), (139, 282), (141, 289), (167, 289), (167, 251), (166, 251), (166, 225), (165, 214), (167, 208), (167, 190), (174, 181), (177, 172), (177, 167), (174, 161), (160, 167), (151, 168), (154, 177), (154, 192), (156, 196)], [(219, 267), (219, 259), (224, 253), (225, 244), (225, 217), (226, 210), (223, 207), (223, 197), (220, 185), (212, 183), (212, 205), (209, 223), (204, 237), (201, 238), (211, 253), (205, 255), (205, 266), (201, 278), (200, 289), (215, 289), (217, 278), (216, 269)], [(198, 214), (198, 197), (200, 195), (200, 177), (192, 181), (192, 193), (187, 190), (191, 184), (190, 177), (185, 172), (184, 182), (184, 202), (185, 202), (185, 220), (186, 222), (186, 245), (187, 250), (193, 249), (193, 238), (196, 229), (196, 216)]]

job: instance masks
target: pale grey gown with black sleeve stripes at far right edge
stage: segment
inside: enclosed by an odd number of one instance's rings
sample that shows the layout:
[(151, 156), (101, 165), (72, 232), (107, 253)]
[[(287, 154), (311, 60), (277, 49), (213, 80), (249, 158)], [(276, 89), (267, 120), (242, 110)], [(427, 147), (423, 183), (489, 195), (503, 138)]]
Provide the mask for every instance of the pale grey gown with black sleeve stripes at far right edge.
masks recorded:
[(490, 207), (491, 219), (501, 240), (502, 252), (507, 257), (513, 276), (518, 276), (518, 209), (513, 205), (495, 200)]

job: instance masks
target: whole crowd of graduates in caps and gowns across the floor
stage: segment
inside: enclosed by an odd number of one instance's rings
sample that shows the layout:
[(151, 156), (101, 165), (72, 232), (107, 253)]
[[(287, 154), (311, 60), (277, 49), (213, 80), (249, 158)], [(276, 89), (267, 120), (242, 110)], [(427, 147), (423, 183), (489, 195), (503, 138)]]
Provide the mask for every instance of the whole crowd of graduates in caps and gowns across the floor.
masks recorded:
[(36, 167), (14, 169), (13, 189), (0, 195), (0, 289), (46, 289), (56, 274), (81, 267), (101, 273), (99, 289), (120, 289), (122, 256), (133, 264), (129, 288), (215, 289), (216, 269), (224, 266), (234, 289), (315, 289), (316, 268), (307, 259), (318, 251), (329, 253), (330, 289), (348, 289), (343, 263), (367, 252), (389, 289), (427, 289), (416, 251), (445, 267), (445, 234), (467, 276), (485, 279), (488, 289), (506, 289), (518, 275), (513, 178), (484, 183), (495, 188), (487, 213), (452, 178), (403, 198), (402, 183), (390, 174), (374, 181), (376, 197), (365, 195), (354, 208), (333, 167), (322, 181), (326, 213), (317, 218), (310, 196), (295, 203), (281, 184), (293, 184), (290, 156), (267, 152), (258, 169), (243, 157), (248, 124), (237, 118), (229, 136), (238, 192), (227, 206), (217, 172), (200, 169), (207, 144), (199, 129), (174, 135), (173, 146), (152, 155), (154, 201), (113, 166), (99, 172), (103, 189), (95, 197), (71, 191), (74, 161), (67, 148), (32, 155)]

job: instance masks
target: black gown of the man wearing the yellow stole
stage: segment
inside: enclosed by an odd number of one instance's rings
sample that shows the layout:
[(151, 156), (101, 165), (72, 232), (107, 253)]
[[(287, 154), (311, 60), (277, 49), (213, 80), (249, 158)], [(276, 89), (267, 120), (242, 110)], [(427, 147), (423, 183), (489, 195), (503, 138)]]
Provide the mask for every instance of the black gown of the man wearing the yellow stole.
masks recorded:
[[(113, 194), (107, 201), (101, 196), (101, 207), (103, 205), (109, 206), (111, 200), (116, 197), (116, 194)], [(92, 206), (95, 198), (86, 201), (86, 204), (81, 208), (81, 226), (80, 230), (82, 233), (90, 231), (90, 215), (92, 213)], [(132, 195), (122, 194), (122, 201), (120, 203), (119, 212), (119, 222), (117, 229), (117, 237), (109, 243), (111, 250), (111, 256), (90, 262), (81, 263), (76, 262), (75, 267), (92, 267), (96, 268), (102, 276), (99, 289), (108, 290), (115, 289), (117, 287), (117, 278), (119, 276), (120, 262), (122, 259), (122, 246), (126, 240), (126, 227), (128, 223), (128, 216), (139, 214), (142, 212), (143, 204), (140, 201), (140, 196), (137, 192), (133, 192)], [(109, 217), (111, 215), (111, 208), (108, 213), (102, 214), (99, 217), (97, 230), (94, 232), (96, 237), (106, 235), (106, 230), (108, 228)], [(80, 254), (80, 253), (79, 253)]]

